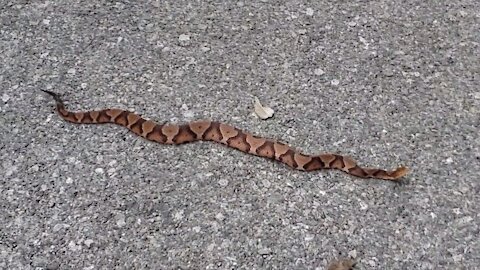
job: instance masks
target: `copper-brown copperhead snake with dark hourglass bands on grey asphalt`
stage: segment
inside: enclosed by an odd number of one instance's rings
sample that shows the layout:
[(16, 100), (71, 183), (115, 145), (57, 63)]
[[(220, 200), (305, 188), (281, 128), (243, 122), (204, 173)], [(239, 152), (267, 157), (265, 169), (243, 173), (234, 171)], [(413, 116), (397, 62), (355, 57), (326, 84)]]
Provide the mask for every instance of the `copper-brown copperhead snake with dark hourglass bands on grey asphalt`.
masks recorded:
[(42, 90), (55, 99), (60, 117), (72, 123), (113, 123), (128, 128), (147, 140), (162, 144), (183, 144), (194, 141), (214, 141), (256, 156), (274, 159), (303, 171), (338, 169), (361, 178), (397, 180), (408, 173), (406, 167), (394, 171), (363, 168), (348, 156), (337, 154), (305, 155), (287, 144), (257, 137), (233, 126), (214, 121), (194, 121), (184, 125), (157, 124), (138, 114), (121, 109), (71, 112), (65, 108), (60, 96)]

